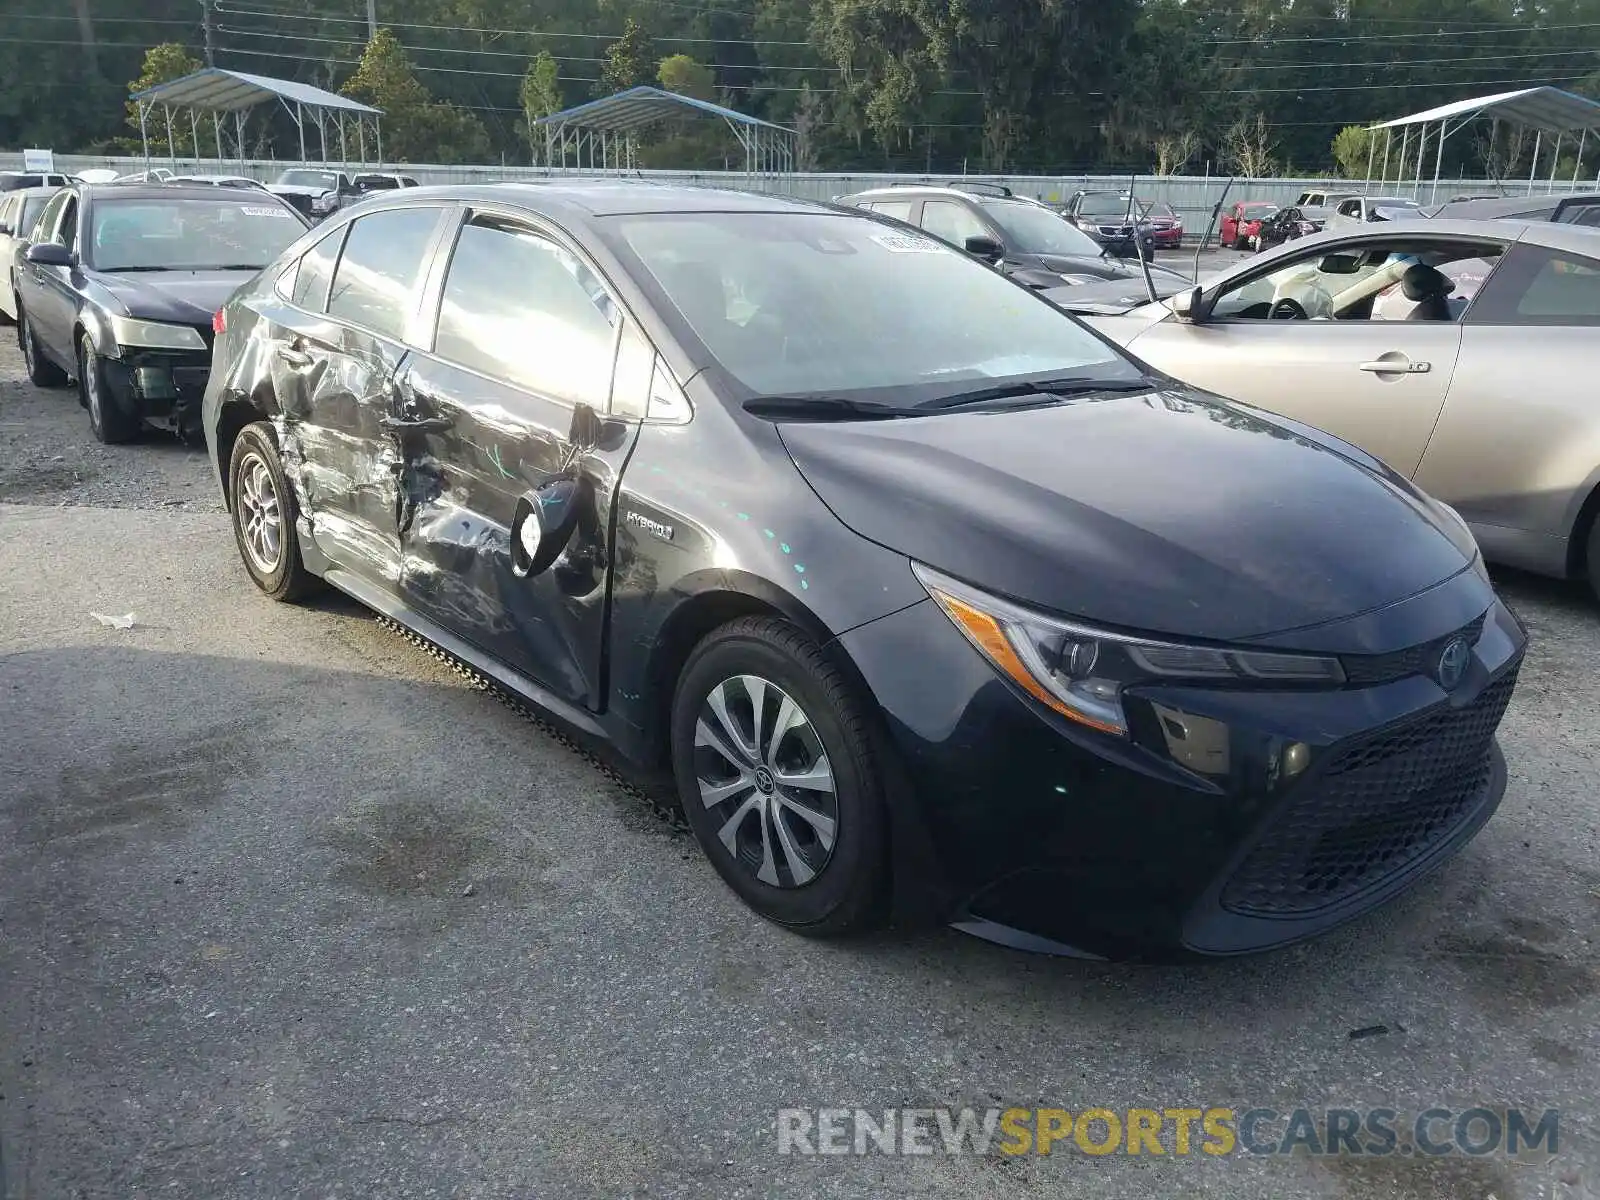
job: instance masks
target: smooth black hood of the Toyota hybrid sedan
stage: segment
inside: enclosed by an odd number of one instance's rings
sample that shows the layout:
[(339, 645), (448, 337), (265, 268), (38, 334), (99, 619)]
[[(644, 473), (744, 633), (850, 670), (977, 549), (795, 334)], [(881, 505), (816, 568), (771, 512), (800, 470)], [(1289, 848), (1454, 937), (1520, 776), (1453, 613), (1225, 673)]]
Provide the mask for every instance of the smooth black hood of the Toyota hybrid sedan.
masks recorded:
[(1403, 480), (1186, 389), (781, 435), (858, 534), (1125, 629), (1262, 638), (1416, 595), (1474, 555)]

